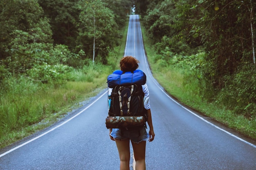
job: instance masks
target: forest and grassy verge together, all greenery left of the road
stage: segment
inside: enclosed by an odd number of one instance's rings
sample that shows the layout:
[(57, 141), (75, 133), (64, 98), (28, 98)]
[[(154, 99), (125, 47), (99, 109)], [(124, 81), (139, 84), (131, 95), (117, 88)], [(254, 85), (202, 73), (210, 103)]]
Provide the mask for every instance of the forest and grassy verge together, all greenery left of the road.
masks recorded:
[(131, 7), (132, 0), (0, 0), (0, 144), (106, 84)]

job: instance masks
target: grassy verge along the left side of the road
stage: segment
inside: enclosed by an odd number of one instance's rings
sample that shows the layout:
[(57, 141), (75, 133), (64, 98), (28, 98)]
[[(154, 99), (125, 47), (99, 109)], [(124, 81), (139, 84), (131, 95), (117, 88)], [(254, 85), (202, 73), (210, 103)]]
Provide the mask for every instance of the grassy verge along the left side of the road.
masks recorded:
[(120, 46), (108, 55), (108, 65), (94, 63), (74, 69), (69, 79), (58, 86), (34, 82), (25, 76), (7, 78), (8, 90), (0, 92), (0, 148), (54, 124), (105, 89), (107, 76), (119, 69), (124, 56), (128, 21), (121, 31)]

